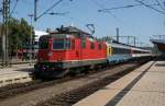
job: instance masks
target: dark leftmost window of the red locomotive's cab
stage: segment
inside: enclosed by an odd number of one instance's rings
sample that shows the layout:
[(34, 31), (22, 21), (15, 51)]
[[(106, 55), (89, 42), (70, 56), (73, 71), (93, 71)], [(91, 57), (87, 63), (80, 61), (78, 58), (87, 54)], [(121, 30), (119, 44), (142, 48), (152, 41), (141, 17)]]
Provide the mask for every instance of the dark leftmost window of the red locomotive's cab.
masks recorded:
[(38, 42), (38, 49), (47, 49), (48, 48), (48, 39), (41, 38)]

